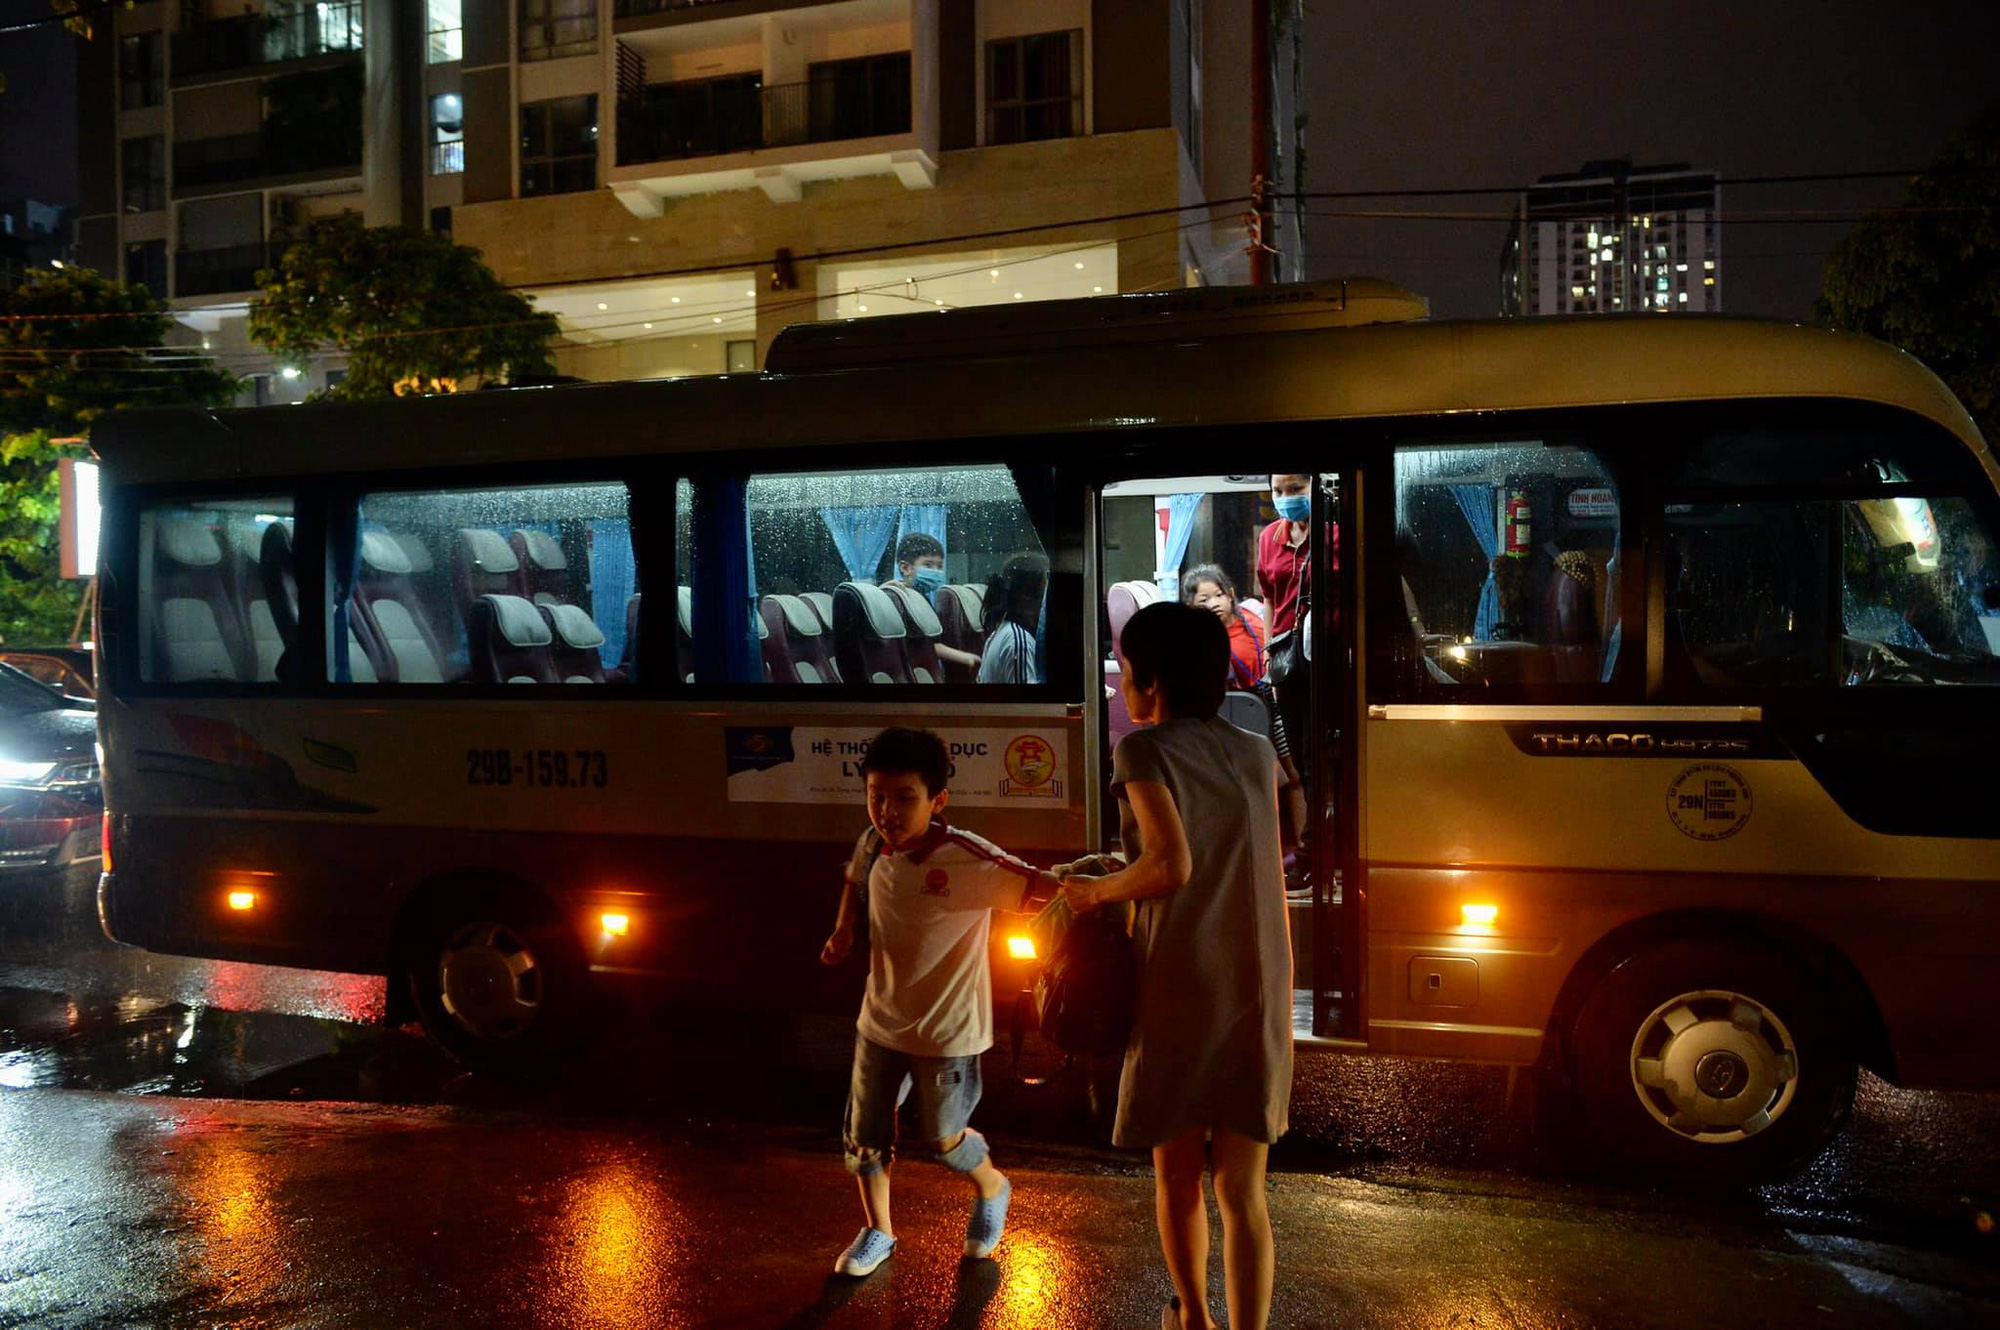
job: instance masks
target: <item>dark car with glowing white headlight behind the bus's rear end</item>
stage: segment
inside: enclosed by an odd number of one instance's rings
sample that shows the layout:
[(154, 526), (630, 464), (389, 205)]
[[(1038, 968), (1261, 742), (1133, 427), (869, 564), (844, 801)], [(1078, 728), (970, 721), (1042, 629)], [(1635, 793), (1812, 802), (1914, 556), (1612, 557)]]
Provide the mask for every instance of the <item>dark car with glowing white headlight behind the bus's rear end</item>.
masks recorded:
[(96, 702), (0, 664), (0, 872), (100, 854)]

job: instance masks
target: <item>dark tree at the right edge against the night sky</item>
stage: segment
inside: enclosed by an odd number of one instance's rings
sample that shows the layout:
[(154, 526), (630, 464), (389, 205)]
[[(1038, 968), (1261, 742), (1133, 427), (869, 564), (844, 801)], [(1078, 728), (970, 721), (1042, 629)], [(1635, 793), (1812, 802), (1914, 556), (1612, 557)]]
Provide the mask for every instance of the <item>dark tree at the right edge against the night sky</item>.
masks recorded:
[(1814, 314), (1904, 348), (2000, 440), (2000, 102), (1826, 258)]

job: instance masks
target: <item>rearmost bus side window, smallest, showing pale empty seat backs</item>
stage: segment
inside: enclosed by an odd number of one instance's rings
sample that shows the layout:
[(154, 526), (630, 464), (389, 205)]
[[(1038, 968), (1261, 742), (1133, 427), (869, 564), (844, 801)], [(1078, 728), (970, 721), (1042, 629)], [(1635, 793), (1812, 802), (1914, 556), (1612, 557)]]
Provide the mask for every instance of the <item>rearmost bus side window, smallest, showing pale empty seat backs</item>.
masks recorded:
[(296, 640), (290, 494), (188, 498), (140, 512), (140, 680), (274, 684)]

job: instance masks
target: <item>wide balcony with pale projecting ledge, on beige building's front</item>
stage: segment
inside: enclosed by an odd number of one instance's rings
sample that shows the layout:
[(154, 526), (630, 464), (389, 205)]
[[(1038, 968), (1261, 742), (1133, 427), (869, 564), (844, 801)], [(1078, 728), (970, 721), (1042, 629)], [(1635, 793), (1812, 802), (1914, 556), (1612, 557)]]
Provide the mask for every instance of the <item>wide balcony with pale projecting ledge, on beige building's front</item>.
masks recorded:
[(654, 84), (618, 106), (610, 184), (638, 216), (660, 216), (672, 196), (756, 186), (794, 202), (806, 180), (878, 174), (908, 188), (936, 180), (914, 132), (908, 52), (818, 64), (808, 82)]

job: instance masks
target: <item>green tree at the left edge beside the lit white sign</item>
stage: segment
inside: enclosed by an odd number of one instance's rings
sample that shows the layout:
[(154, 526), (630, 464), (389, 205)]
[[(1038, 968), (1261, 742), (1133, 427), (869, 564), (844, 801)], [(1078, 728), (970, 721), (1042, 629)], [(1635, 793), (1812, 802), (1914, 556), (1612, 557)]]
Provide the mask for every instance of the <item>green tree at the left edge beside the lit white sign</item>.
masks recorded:
[(84, 268), (0, 292), (0, 640), (60, 642), (76, 622), (82, 584), (58, 576), (56, 464), (88, 456), (90, 424), (236, 392), (206, 356), (164, 348), (172, 326), (144, 286)]

